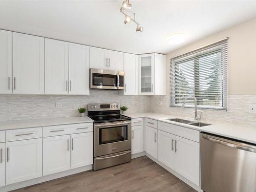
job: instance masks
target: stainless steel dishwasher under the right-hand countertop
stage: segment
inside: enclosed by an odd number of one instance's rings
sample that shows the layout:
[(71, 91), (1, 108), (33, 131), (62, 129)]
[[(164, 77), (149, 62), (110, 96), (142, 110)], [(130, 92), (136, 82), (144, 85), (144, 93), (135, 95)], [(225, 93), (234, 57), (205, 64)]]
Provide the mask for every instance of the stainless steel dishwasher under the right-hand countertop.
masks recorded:
[(203, 191), (256, 191), (256, 145), (201, 133), (200, 151)]

